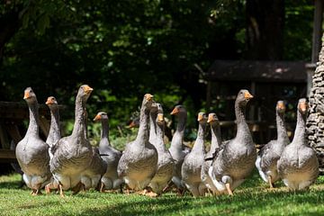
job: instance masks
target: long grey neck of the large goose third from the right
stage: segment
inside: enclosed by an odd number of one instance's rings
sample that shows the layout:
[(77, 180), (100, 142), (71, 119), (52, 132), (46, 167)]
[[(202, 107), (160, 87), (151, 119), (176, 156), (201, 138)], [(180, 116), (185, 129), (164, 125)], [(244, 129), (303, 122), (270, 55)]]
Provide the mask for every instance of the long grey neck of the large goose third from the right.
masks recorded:
[(242, 140), (250, 139), (251, 141), (252, 137), (247, 126), (247, 121), (245, 118), (245, 110), (246, 110), (245, 106), (240, 106), (238, 102), (235, 103), (235, 115), (236, 115), (236, 121), (238, 126), (236, 138)]

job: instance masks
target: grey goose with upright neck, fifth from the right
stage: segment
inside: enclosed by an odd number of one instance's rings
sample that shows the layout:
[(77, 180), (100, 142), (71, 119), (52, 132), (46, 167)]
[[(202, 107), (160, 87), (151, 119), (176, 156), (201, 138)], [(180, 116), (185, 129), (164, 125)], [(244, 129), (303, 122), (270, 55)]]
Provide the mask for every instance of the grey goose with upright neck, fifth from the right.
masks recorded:
[(185, 186), (193, 193), (194, 197), (202, 196), (206, 186), (202, 183), (201, 173), (204, 161), (204, 133), (206, 130), (207, 116), (204, 112), (198, 114), (199, 129), (193, 149), (184, 157), (181, 175)]

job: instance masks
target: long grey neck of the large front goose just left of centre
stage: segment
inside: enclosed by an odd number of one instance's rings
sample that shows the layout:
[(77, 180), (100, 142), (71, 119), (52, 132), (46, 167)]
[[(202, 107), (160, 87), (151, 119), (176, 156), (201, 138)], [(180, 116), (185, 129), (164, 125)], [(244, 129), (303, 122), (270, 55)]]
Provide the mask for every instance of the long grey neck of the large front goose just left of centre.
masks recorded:
[(148, 117), (149, 111), (142, 105), (139, 114), (139, 132), (135, 140), (140, 145), (145, 145), (148, 142)]

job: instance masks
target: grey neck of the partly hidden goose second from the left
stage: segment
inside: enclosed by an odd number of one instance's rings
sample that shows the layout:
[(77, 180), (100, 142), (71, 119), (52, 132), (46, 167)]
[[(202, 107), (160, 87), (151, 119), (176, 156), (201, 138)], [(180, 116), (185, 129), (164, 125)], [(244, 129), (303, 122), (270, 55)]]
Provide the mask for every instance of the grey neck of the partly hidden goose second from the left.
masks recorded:
[(50, 127), (49, 136), (46, 142), (49, 144), (54, 144), (61, 138), (60, 127), (59, 127), (59, 111), (58, 108), (50, 109)]

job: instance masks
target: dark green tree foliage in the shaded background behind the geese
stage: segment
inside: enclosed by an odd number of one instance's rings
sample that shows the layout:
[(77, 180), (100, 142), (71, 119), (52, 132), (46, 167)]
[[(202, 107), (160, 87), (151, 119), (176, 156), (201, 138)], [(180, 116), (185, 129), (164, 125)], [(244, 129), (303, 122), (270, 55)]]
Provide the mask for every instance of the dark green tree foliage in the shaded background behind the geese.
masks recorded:
[[(94, 87), (87, 105), (91, 133), (98, 127), (90, 120), (105, 111), (112, 134), (120, 134), (143, 94), (151, 93), (166, 113), (184, 103), (186, 134), (193, 134), (205, 104), (205, 83), (194, 65), (206, 71), (215, 58), (247, 52), (246, 0), (4, 2), (0, 14), (20, 11), (22, 25), (4, 47), (0, 99), (22, 101), (29, 85), (40, 103), (56, 96), (67, 105), (66, 134), (81, 84)], [(284, 59), (310, 59), (313, 5), (285, 5)]]

